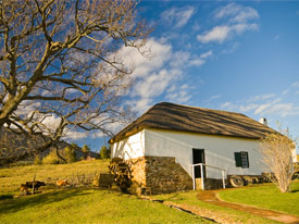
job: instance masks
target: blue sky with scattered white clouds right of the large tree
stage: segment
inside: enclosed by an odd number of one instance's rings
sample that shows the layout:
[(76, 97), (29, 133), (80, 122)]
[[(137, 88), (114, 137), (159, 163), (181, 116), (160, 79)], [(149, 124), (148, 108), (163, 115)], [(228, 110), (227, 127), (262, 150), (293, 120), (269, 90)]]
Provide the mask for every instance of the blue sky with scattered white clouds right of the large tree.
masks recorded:
[(155, 30), (150, 60), (121, 52), (136, 66), (124, 96), (135, 112), (170, 101), (266, 117), (299, 136), (298, 1), (141, 1), (138, 14)]

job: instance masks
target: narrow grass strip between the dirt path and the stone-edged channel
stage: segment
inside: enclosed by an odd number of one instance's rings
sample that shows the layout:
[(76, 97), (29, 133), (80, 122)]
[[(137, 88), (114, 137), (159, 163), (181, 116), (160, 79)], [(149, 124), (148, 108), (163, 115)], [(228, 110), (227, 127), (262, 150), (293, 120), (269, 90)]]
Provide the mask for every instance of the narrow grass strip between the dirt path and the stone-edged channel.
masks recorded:
[(200, 201), (197, 198), (198, 191), (188, 191), (188, 192), (176, 192), (176, 194), (166, 194), (154, 196), (154, 199), (172, 201), (180, 204), (188, 204), (199, 209), (208, 210), (208, 212), (213, 212), (213, 214), (226, 220), (226, 223), (263, 223), (263, 224), (275, 224), (273, 220), (267, 220), (264, 217), (256, 216), (241, 211), (236, 211), (233, 209), (227, 209), (223, 207), (217, 207), (211, 203)]

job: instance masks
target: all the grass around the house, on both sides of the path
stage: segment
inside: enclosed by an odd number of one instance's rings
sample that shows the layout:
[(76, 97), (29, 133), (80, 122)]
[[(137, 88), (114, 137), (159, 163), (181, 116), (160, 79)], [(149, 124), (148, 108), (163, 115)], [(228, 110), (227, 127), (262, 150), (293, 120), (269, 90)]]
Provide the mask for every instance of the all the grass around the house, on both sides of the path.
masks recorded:
[[(34, 196), (4, 199), (20, 195), (20, 185), (36, 179), (54, 183), (73, 175), (108, 172), (109, 160), (83, 161), (60, 165), (29, 165), (0, 169), (0, 223), (211, 223), (159, 202), (98, 188), (42, 189)], [(248, 203), (272, 210), (299, 214), (299, 182), (294, 192), (279, 194), (274, 185), (245, 187), (221, 191), (227, 201)], [(246, 212), (213, 206), (197, 199), (197, 191), (154, 196), (155, 199), (196, 207), (239, 223), (276, 223)], [(4, 197), (1, 197), (4, 196)], [(289, 209), (291, 208), (291, 209)], [(209, 216), (209, 215), (208, 215)]]

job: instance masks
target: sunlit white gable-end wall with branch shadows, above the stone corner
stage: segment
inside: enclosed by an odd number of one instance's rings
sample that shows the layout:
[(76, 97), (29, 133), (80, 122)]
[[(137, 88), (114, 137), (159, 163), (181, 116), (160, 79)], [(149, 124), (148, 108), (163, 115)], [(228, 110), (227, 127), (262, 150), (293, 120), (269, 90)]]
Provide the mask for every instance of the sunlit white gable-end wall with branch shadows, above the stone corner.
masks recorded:
[(145, 130), (112, 144), (111, 157), (125, 160), (145, 157)]

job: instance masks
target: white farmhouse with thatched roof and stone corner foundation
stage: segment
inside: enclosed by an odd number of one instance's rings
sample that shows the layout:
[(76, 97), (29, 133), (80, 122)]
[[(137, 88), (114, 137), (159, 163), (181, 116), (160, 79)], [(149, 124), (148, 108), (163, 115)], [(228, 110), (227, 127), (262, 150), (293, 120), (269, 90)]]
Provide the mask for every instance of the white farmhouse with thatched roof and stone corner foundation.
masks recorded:
[[(275, 133), (244, 114), (162, 102), (110, 139), (147, 194), (191, 189), (192, 176), (261, 175), (259, 139)], [(204, 163), (200, 166), (192, 164)], [(221, 170), (217, 170), (217, 169)]]

